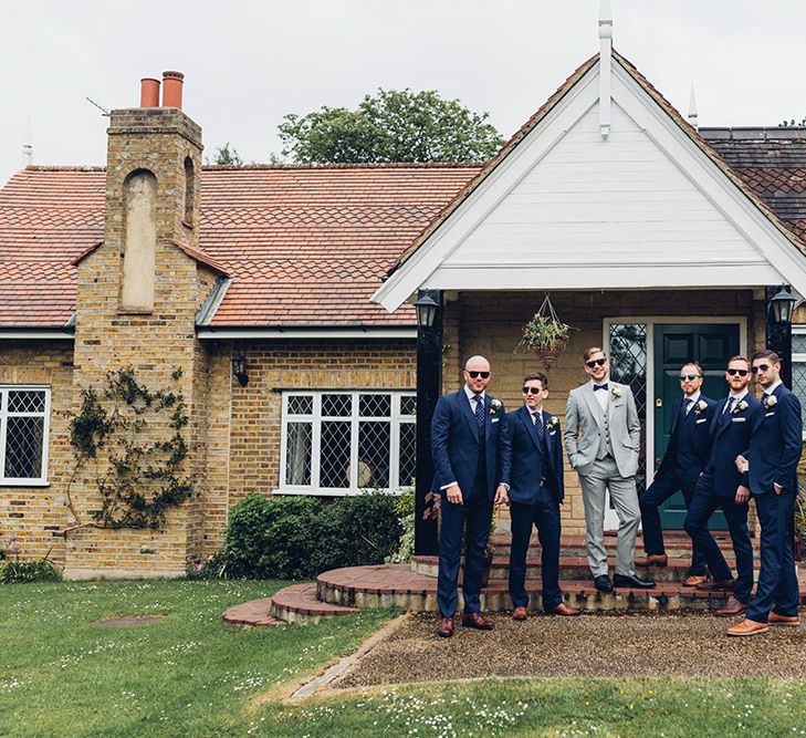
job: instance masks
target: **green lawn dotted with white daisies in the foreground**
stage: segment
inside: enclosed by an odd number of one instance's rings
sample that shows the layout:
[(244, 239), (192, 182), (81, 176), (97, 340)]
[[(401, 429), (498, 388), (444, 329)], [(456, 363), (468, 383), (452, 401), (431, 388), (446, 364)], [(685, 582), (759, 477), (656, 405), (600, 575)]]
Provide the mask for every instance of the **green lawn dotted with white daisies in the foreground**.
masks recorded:
[[(806, 736), (806, 683), (792, 679), (484, 679), (291, 704), (282, 699), (290, 685), (389, 614), (255, 630), (221, 623), (228, 606), (280, 585), (0, 586), (0, 735)], [(166, 617), (92, 624), (146, 613)]]

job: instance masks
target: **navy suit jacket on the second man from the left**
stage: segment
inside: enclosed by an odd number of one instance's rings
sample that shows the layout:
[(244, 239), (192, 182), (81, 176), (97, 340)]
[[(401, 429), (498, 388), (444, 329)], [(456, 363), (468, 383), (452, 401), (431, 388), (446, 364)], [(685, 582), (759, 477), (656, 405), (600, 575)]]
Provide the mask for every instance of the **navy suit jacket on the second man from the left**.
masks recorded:
[(506, 414), (510, 444), (504, 454), (511, 454), (512, 461), (503, 465), (504, 469), (509, 469), (509, 478), (501, 481), (510, 485), (510, 500), (513, 502), (535, 502), (541, 477), (546, 480), (546, 487), (552, 490), (557, 502), (563, 501), (563, 436), (559, 423), (546, 427), (552, 419), (551, 413), (543, 410), (542, 417), (545, 434), (541, 443), (526, 405)]

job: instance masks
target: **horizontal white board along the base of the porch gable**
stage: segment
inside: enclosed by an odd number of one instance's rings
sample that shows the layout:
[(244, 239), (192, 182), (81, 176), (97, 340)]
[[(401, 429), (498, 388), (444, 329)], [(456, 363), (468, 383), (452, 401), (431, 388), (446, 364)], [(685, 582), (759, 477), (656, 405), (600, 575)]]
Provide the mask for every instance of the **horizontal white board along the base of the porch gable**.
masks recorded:
[(698, 263), (611, 266), (507, 264), (450, 267), (438, 269), (429, 279), (435, 290), (667, 290), (667, 289), (751, 289), (781, 281), (768, 263), (724, 263), (702, 267)]

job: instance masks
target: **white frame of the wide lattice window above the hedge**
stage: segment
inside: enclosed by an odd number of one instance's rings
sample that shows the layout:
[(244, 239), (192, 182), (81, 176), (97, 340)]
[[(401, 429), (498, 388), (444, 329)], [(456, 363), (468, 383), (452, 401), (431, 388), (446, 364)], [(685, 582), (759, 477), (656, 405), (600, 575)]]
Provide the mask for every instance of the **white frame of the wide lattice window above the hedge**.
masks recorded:
[[(322, 414), (322, 397), (324, 395), (349, 395), (350, 415), (347, 416), (325, 416)], [(366, 416), (359, 415), (359, 395), (388, 395), (391, 399), (391, 409), (389, 416)], [(400, 401), (404, 396), (416, 397), (415, 389), (283, 389), (282, 391), (282, 415), (281, 415), (281, 434), (280, 434), (280, 484), (275, 493), (278, 495), (310, 495), (310, 496), (327, 496), (327, 497), (347, 497), (350, 495), (360, 495), (370, 491), (373, 487), (358, 486), (358, 427), (360, 423), (388, 422), (390, 423), (390, 443), (389, 443), (389, 487), (388, 491), (398, 492), (410, 489), (410, 484), (400, 484), (400, 427), (404, 424), (414, 425), (416, 416), (414, 414), (404, 415), (400, 412)], [(289, 399), (292, 397), (312, 397), (313, 413), (311, 415), (291, 414), (289, 412)], [(349, 449), (349, 469), (350, 479), (348, 487), (321, 487), (320, 486), (320, 451), (322, 443), (322, 423), (323, 420), (342, 420), (350, 424), (350, 449)], [(287, 441), (289, 425), (291, 423), (310, 423), (313, 427), (311, 438), (311, 484), (310, 485), (289, 485), (286, 484), (286, 465), (287, 465)]]

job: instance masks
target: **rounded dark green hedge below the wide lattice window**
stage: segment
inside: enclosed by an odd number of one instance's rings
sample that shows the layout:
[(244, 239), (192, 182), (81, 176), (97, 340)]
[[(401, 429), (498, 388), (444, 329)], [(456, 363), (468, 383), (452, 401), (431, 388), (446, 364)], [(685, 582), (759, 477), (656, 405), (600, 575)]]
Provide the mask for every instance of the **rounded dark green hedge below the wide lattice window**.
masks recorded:
[(402, 532), (395, 498), (370, 492), (324, 502), (252, 492), (230, 513), (222, 550), (229, 578), (311, 579), (384, 563)]

